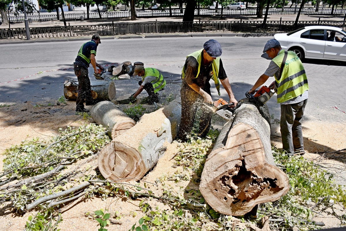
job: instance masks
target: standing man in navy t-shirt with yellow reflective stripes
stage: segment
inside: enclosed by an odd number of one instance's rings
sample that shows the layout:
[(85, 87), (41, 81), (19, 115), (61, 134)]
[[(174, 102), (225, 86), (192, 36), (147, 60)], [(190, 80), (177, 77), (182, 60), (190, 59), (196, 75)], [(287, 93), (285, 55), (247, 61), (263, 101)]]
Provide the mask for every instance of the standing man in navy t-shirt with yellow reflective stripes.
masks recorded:
[(94, 68), (95, 74), (98, 74), (96, 67), (103, 70), (103, 67), (96, 63), (95, 56), (97, 46), (101, 43), (99, 35), (93, 35), (91, 41), (84, 43), (79, 49), (75, 62), (73, 63), (74, 73), (78, 79), (78, 91), (76, 99), (76, 112), (89, 112), (84, 108), (85, 105), (93, 104), (93, 98), (91, 96), (91, 86), (88, 73), (88, 67), (91, 63)]

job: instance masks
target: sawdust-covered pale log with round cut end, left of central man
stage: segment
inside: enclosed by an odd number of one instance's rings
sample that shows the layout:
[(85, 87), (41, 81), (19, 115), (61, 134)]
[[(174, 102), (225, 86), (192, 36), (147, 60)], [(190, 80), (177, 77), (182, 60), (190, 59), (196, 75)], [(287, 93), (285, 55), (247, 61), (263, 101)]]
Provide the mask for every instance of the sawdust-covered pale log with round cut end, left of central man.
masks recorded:
[(102, 176), (116, 182), (142, 178), (160, 159), (167, 143), (172, 143), (179, 131), (180, 98), (150, 114), (123, 134), (117, 136), (99, 152)]

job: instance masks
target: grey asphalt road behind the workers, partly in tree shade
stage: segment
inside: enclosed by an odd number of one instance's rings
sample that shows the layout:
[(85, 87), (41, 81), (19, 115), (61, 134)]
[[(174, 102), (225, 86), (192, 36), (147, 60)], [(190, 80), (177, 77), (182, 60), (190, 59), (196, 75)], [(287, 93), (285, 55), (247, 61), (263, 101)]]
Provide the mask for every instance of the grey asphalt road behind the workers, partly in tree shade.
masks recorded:
[[(236, 99), (244, 98), (245, 92), (270, 62), (261, 55), (264, 44), (271, 37), (101, 39), (96, 60), (100, 64), (140, 61), (160, 70), (166, 80), (179, 80), (186, 55), (201, 49), (203, 43), (211, 38), (222, 45), (221, 59)], [(61, 97), (64, 81), (75, 78), (71, 67), (82, 44), (83, 41), (0, 45), (0, 104), (49, 101)], [(304, 119), (344, 123), (346, 115), (333, 107), (346, 111), (346, 65), (343, 62), (307, 60), (304, 67), (310, 87)], [(272, 81), (274, 77), (266, 85)], [(175, 92), (180, 88), (176, 84), (171, 84), (171, 87)], [(137, 88), (134, 81), (126, 82), (117, 88), (117, 92), (131, 92)], [(227, 99), (226, 91), (221, 89), (221, 97)], [(214, 100), (219, 98), (216, 91), (212, 94)], [(271, 114), (280, 119), (280, 105), (276, 99), (271, 99), (267, 105)]]

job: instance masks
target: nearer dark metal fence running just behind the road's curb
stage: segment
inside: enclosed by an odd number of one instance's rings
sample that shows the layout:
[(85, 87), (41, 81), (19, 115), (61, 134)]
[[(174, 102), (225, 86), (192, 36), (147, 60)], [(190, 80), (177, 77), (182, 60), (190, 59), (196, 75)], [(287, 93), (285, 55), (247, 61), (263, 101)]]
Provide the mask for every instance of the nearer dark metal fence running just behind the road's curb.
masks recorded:
[[(56, 38), (78, 37), (99, 34), (102, 36), (115, 36), (125, 34), (148, 33), (191, 33), (191, 32), (288, 32), (303, 26), (334, 26), (345, 29), (345, 21), (194, 21), (194, 22), (154, 22), (154, 23), (112, 23), (87, 26), (55, 26), (30, 28), (30, 38)], [(26, 39), (25, 28), (0, 29), (0, 39)]]

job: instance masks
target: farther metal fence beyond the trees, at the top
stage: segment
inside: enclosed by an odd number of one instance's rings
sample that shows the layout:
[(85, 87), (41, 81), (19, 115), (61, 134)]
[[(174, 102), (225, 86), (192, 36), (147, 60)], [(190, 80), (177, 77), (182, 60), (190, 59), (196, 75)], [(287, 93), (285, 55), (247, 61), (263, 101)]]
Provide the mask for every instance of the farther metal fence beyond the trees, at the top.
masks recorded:
[[(282, 9), (269, 9), (268, 14), (270, 15), (294, 15), (294, 8), (285, 8)], [(136, 16), (138, 18), (141, 17), (169, 17), (169, 16), (183, 16), (184, 11), (181, 13), (180, 9), (172, 9), (172, 14), (170, 14), (169, 10), (136, 10)], [(298, 13), (298, 9), (296, 11)], [(333, 15), (345, 15), (346, 9), (334, 9)], [(233, 10), (233, 9), (223, 9), (223, 15), (256, 15), (256, 9), (244, 9), (244, 10)], [(263, 14), (265, 14), (265, 10), (263, 10)], [(317, 12), (315, 9), (303, 9), (301, 14), (305, 15), (330, 15), (331, 9), (319, 9)], [(208, 9), (200, 9), (195, 10), (195, 16), (198, 15), (221, 15), (221, 9), (217, 10), (208, 10)], [(65, 12), (64, 14), (66, 20), (81, 20), (87, 19), (88, 15), (83, 13), (69, 13)], [(130, 11), (111, 11), (111, 12), (102, 12), (101, 18), (125, 18), (131, 17)], [(49, 21), (49, 20), (58, 20), (57, 14), (53, 13), (41, 13), (35, 15), (28, 15), (28, 18), (31, 21)], [(89, 13), (89, 19), (98, 19), (100, 18), (98, 13)], [(62, 20), (62, 14), (59, 14), (59, 19)], [(1, 17), (0, 17), (1, 20)], [(10, 17), (11, 23), (20, 23), (24, 22), (24, 16)]]

